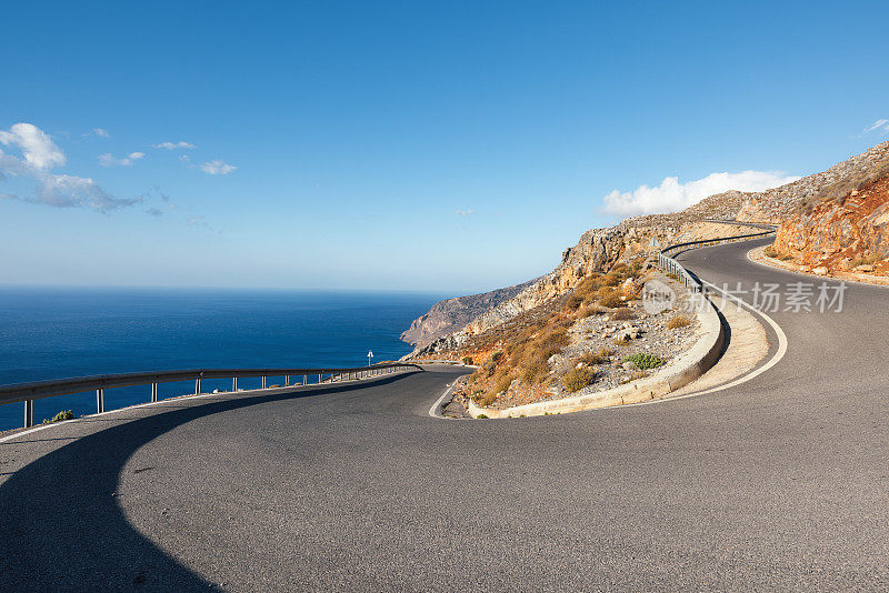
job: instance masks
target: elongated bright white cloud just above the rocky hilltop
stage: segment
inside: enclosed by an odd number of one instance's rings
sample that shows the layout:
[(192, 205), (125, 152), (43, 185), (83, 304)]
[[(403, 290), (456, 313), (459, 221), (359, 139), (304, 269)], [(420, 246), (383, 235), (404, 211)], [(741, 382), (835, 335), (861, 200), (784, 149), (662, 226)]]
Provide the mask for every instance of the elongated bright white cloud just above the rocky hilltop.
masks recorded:
[(612, 191), (605, 197), (605, 211), (631, 217), (677, 212), (693, 205), (708, 195), (723, 191), (763, 191), (800, 179), (781, 171), (741, 171), (740, 173), (710, 173), (703, 179), (680, 183), (668, 177), (660, 185), (639, 185), (630, 192)]

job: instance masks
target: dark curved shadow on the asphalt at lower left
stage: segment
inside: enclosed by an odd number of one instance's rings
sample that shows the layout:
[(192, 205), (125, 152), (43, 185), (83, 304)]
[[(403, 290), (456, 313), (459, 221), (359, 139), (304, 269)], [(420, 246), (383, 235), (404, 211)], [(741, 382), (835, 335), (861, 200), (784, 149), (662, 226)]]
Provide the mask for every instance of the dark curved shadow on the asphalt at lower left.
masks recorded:
[(112, 425), (43, 455), (0, 486), (0, 591), (217, 590), (214, 583), (180, 565), (127, 521), (116, 489), (130, 455), (198, 418), (386, 385), (404, 376), (409, 375), (312, 391), (214, 399)]

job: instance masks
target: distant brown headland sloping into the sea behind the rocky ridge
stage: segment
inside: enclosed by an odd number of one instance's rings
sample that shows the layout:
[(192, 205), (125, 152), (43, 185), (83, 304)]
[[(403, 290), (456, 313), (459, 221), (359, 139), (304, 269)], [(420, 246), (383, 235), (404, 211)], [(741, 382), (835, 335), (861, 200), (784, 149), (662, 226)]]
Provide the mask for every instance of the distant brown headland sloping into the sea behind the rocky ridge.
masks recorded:
[(463, 328), (467, 323), (490, 311), (503, 301), (508, 301), (527, 289), (536, 280), (507, 289), (492, 290), (482, 294), (458, 296), (436, 303), (429, 312), (413, 320), (401, 340), (416, 346), (426, 346), (455, 329)]

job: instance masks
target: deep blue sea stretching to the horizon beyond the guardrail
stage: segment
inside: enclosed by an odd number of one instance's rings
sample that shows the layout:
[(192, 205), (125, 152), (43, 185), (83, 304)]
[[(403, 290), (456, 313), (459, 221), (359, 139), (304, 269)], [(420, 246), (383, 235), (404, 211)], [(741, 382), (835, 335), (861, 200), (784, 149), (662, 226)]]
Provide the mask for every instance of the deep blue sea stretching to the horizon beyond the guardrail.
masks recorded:
[[(357, 366), (411, 348), (399, 335), (443, 296), (430, 293), (202, 289), (0, 288), (0, 384), (194, 368)], [(242, 379), (239, 386), (259, 386)], [(210, 381), (203, 391), (231, 389)], [(160, 396), (193, 391), (163, 383)], [(108, 390), (106, 410), (150, 399), (150, 386)], [(96, 412), (93, 393), (37, 400), (34, 422)], [(0, 405), (0, 430), (23, 404)]]

